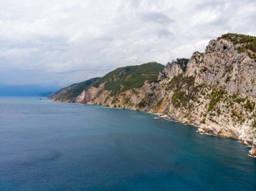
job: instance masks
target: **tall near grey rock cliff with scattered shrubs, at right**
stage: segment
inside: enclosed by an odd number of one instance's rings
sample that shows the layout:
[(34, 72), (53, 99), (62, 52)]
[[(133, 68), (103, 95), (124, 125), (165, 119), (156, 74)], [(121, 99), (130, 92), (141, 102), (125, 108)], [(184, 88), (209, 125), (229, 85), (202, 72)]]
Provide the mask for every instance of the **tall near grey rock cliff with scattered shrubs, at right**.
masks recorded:
[(151, 112), (199, 126), (200, 133), (238, 139), (255, 155), (256, 65), (247, 53), (227, 40), (211, 40), (184, 72), (172, 62), (162, 73)]

